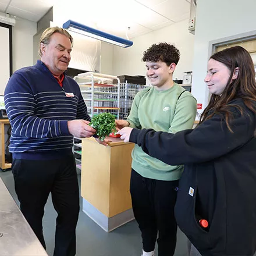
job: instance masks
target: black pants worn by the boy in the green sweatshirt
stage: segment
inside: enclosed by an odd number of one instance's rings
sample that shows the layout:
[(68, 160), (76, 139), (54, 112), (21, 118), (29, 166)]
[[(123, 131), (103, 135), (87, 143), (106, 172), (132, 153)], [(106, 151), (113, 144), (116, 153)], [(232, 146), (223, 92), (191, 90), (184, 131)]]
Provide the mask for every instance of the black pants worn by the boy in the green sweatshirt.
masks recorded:
[(148, 179), (131, 169), (131, 201), (145, 252), (154, 251), (157, 241), (158, 256), (175, 253), (177, 223), (174, 206), (178, 187), (179, 180)]

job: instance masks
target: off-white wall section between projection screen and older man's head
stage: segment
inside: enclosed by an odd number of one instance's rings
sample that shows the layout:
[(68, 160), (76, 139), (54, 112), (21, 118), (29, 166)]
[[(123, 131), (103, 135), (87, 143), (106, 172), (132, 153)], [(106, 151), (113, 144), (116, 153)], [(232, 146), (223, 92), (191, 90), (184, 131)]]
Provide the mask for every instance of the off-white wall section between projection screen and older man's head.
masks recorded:
[(37, 23), (16, 17), (12, 31), (13, 72), (33, 65), (33, 36), (36, 33)]

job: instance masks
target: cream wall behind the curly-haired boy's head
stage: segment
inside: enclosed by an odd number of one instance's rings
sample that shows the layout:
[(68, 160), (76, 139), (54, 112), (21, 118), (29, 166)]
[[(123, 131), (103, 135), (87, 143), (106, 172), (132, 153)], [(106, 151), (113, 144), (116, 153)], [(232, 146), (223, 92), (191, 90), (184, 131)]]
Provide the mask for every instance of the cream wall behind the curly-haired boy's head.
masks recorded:
[(175, 44), (180, 50), (180, 61), (173, 79), (183, 79), (183, 72), (192, 70), (194, 56), (194, 35), (189, 33), (188, 23), (188, 20), (183, 20), (183, 22), (133, 38), (131, 39), (133, 46), (129, 48), (114, 47), (113, 74), (145, 76), (145, 63), (141, 61), (143, 52), (154, 43), (169, 42)]

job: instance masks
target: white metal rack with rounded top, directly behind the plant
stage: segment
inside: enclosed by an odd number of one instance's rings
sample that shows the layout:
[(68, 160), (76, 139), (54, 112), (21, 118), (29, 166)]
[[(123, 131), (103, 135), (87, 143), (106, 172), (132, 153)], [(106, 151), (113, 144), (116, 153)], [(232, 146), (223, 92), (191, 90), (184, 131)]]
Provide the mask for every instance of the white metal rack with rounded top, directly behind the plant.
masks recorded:
[[(120, 79), (109, 74), (86, 72), (78, 74), (74, 80), (80, 86), (89, 115), (110, 112), (119, 119)], [(113, 80), (118, 81), (113, 84)]]

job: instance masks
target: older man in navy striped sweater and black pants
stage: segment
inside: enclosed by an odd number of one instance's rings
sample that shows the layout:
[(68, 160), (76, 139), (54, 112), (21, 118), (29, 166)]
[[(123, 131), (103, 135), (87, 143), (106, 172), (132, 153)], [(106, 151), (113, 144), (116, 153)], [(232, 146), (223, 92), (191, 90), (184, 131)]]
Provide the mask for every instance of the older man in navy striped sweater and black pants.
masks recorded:
[(5, 89), (12, 137), (12, 172), (20, 209), (42, 246), (42, 217), (49, 193), (56, 219), (54, 256), (76, 254), (79, 187), (72, 153), (73, 136), (91, 137), (90, 116), (76, 81), (65, 76), (73, 38), (59, 27), (40, 40), (34, 66), (17, 70)]

